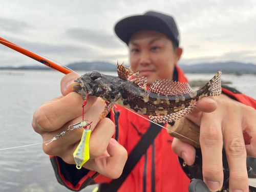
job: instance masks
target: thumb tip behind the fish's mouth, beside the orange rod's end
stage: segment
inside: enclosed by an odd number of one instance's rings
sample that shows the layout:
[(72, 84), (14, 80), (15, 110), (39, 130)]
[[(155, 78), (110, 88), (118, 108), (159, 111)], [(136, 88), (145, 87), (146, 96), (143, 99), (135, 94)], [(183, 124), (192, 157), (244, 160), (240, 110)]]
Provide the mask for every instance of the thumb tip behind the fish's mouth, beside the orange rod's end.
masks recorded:
[(77, 82), (74, 82), (74, 79), (79, 78), (80, 75), (77, 73), (69, 73), (65, 75), (60, 82), (60, 91), (63, 96), (68, 95), (70, 92), (73, 92), (73, 87)]

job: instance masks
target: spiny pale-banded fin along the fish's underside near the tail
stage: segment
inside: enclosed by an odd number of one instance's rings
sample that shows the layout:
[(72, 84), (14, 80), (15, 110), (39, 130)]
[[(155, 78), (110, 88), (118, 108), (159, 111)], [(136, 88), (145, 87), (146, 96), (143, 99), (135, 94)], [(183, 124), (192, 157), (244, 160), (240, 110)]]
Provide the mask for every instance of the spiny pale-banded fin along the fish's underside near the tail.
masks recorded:
[(180, 110), (175, 113), (171, 113), (169, 115), (163, 115), (163, 116), (149, 116), (150, 119), (156, 123), (168, 123), (168, 122), (173, 122), (177, 121), (178, 119), (185, 117), (189, 113), (193, 111), (195, 108), (196, 104), (193, 104), (191, 106), (188, 106), (187, 108)]

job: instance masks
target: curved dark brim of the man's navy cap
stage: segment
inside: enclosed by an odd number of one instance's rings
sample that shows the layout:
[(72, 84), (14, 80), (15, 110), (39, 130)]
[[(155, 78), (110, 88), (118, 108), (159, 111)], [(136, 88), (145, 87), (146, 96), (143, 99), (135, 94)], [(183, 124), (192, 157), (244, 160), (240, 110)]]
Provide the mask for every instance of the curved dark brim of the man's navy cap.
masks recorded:
[[(174, 40), (173, 34), (168, 25), (160, 18), (150, 15), (136, 15), (120, 20), (115, 26), (117, 36), (127, 45), (131, 36), (141, 30), (155, 30), (167, 35), (171, 40)], [(176, 42), (176, 40), (175, 40)]]

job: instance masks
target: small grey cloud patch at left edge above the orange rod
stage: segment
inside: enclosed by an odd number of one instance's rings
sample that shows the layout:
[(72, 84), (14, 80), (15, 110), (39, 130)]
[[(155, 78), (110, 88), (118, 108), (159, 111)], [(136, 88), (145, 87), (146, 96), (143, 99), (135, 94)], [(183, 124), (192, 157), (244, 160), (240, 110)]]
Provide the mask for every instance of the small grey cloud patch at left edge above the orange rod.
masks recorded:
[(19, 20), (0, 18), (0, 30), (2, 31), (20, 33), (29, 27), (27, 23)]

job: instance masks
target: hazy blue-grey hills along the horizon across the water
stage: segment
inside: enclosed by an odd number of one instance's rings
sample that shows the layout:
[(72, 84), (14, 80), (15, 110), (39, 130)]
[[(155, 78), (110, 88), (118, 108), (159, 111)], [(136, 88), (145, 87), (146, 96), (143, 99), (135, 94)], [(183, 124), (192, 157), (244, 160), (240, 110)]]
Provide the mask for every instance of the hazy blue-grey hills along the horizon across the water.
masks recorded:
[[(202, 63), (193, 66), (179, 64), (185, 73), (217, 73), (222, 70), (222, 73), (236, 73), (236, 74), (256, 74), (256, 65), (252, 63), (245, 64), (241, 62), (216, 62), (216, 63)], [(67, 65), (68, 68), (78, 71), (116, 71), (116, 64), (109, 62), (75, 62)], [(126, 66), (129, 67), (129, 66)], [(15, 67), (0, 67), (0, 69), (23, 69), (23, 70), (49, 70), (45, 65), (21, 66)]]

